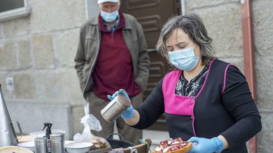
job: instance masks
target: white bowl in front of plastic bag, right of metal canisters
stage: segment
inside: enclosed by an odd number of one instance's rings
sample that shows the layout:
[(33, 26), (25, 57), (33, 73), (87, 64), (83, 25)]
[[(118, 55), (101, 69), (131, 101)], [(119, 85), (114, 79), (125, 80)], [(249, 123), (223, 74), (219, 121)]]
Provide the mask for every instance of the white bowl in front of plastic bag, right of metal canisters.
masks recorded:
[(92, 146), (91, 142), (73, 142), (65, 144), (65, 149), (69, 153), (87, 153)]

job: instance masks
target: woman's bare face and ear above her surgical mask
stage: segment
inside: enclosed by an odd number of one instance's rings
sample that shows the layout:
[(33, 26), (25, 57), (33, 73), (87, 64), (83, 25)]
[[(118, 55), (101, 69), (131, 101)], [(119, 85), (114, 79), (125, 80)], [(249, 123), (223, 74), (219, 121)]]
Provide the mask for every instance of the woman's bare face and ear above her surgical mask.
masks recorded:
[[(189, 35), (186, 34), (181, 28), (173, 30), (171, 36), (166, 39), (166, 45), (168, 51), (181, 50), (193, 47), (195, 42), (193, 42)], [(197, 57), (200, 51), (199, 45), (195, 45), (194, 54)], [(201, 57), (201, 54), (199, 54)]]

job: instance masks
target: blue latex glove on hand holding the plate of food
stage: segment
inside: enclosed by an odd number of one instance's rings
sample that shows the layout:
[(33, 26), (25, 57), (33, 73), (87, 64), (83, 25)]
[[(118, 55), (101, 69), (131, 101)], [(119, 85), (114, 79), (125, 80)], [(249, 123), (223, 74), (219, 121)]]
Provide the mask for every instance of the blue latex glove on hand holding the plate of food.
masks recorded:
[(211, 139), (191, 137), (188, 142), (197, 142), (197, 145), (192, 147), (189, 153), (219, 153), (224, 149), (224, 143), (217, 137)]

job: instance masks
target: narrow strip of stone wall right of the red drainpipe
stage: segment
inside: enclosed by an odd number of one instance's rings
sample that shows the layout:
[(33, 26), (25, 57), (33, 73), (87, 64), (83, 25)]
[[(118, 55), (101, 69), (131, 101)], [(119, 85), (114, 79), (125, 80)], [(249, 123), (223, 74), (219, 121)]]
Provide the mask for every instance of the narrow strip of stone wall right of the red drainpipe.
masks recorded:
[(254, 0), (252, 3), (255, 48), (257, 106), (262, 116), (262, 131), (258, 134), (258, 151), (273, 150), (273, 1)]

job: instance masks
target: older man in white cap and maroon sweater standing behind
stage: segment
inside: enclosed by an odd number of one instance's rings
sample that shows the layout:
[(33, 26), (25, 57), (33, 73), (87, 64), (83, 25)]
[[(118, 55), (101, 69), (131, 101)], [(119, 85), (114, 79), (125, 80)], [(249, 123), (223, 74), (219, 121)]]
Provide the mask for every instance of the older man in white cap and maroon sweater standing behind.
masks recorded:
[[(90, 113), (101, 122), (102, 131), (92, 131), (105, 138), (113, 133), (114, 123), (101, 116), (101, 109), (119, 89), (127, 91), (133, 107), (142, 103), (149, 77), (149, 57), (141, 25), (119, 11), (119, 0), (98, 0), (100, 14), (89, 19), (80, 29), (75, 69)], [(119, 117), (118, 132), (124, 140), (138, 143), (142, 131), (128, 126)]]

